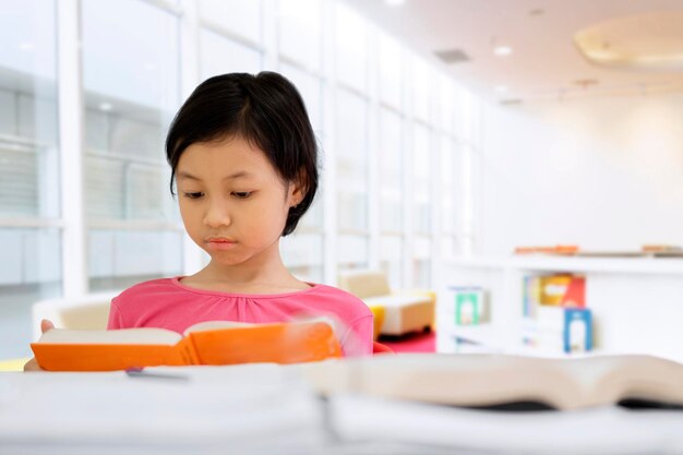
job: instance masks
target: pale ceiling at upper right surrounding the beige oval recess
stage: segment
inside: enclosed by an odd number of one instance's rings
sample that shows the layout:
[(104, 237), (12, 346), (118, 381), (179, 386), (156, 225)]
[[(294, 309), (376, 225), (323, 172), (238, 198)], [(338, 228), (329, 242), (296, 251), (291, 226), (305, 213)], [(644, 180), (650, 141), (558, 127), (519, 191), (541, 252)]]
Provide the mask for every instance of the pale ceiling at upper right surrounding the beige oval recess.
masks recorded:
[[(441, 65), (454, 79), (501, 103), (683, 92), (683, 68), (625, 69), (590, 63), (574, 44), (583, 28), (645, 13), (672, 13), (672, 32), (638, 27), (683, 59), (683, 0), (344, 0), (380, 28)], [(633, 27), (634, 22), (630, 24)], [(674, 24), (675, 25), (675, 24)], [(614, 28), (614, 27), (612, 27)], [(622, 27), (623, 33), (623, 27)], [(649, 35), (657, 36), (649, 36)], [(496, 46), (512, 53), (496, 56)], [(434, 52), (462, 50), (446, 64)], [(588, 82), (586, 82), (588, 81)]]

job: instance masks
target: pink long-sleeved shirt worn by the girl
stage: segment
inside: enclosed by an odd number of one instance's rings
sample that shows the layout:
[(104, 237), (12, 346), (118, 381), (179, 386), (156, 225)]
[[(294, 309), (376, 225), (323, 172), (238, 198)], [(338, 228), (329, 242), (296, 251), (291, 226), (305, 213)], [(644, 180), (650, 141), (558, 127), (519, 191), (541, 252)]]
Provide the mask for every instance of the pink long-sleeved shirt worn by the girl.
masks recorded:
[(284, 322), (300, 316), (333, 316), (346, 356), (372, 354), (372, 313), (340, 289), (312, 285), (286, 294), (249, 295), (195, 289), (179, 278), (135, 285), (111, 300), (108, 330), (161, 327), (178, 333), (204, 321)]

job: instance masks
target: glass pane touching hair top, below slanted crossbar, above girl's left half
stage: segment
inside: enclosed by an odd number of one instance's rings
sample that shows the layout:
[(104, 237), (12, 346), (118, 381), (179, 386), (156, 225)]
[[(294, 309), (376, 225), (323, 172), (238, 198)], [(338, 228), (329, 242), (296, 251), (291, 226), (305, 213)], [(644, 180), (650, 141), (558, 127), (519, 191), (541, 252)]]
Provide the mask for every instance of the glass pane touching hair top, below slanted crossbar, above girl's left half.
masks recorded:
[(200, 43), (202, 81), (217, 74), (261, 71), (261, 52), (256, 49), (205, 29), (200, 33)]

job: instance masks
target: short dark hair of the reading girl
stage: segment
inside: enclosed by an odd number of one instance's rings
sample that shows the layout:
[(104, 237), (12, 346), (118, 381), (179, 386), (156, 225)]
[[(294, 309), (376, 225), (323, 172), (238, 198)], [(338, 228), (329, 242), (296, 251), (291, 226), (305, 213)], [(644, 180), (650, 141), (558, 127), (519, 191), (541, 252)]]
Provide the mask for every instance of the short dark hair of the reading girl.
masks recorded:
[(302, 183), (305, 195), (289, 209), (283, 230), (291, 234), (317, 190), (317, 147), (301, 95), (278, 73), (223, 74), (194, 89), (166, 137), (171, 194), (178, 161), (190, 145), (232, 135), (262, 149), (285, 182)]

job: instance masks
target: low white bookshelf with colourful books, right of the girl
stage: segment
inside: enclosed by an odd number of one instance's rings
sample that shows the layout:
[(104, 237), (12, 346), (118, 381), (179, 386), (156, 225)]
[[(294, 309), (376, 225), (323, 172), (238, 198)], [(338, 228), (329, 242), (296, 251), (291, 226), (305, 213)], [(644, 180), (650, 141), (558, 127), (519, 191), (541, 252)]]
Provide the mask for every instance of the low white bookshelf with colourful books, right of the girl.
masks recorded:
[(488, 322), (456, 326), (438, 308), (439, 351), (455, 352), (463, 346), (468, 351), (467, 344), (454, 346), (460, 339), (470, 342), (475, 351), (567, 356), (522, 344), (523, 282), (527, 275), (573, 273), (586, 276), (596, 346), (590, 355), (648, 354), (683, 361), (683, 259), (474, 256), (450, 261), (444, 272), (442, 291), (447, 286), (486, 290)]

